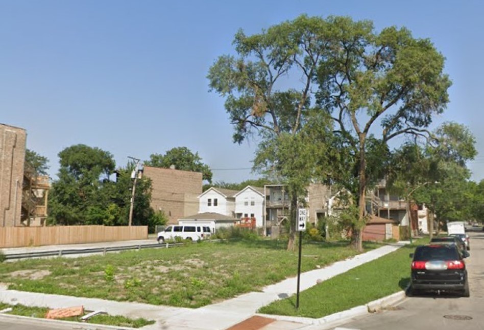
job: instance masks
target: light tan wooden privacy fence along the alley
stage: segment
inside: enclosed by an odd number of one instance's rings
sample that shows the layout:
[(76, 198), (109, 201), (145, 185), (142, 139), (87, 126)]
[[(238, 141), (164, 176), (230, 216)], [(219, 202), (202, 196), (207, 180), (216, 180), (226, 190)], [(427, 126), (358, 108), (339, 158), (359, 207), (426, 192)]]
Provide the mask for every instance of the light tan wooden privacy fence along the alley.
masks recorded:
[(0, 248), (148, 239), (147, 226), (2, 227)]

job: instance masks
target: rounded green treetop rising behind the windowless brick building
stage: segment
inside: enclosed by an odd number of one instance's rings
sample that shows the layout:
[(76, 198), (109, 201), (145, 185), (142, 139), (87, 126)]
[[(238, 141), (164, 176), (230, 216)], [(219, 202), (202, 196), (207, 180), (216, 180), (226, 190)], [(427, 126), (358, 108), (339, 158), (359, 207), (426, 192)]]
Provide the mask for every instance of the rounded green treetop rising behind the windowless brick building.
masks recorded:
[(196, 152), (192, 153), (187, 147), (177, 147), (166, 151), (163, 154), (152, 154), (150, 160), (144, 161), (146, 166), (169, 169), (175, 166), (177, 170), (201, 172), (202, 179), (212, 182), (212, 171), (207, 164), (202, 162), (202, 158)]

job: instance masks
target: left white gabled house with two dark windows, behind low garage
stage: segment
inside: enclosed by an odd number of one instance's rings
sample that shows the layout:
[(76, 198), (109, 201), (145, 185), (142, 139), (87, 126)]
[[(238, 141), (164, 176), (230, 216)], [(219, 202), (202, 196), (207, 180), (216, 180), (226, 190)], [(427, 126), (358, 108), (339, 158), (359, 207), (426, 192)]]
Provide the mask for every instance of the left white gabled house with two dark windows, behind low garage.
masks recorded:
[(219, 213), (235, 216), (235, 194), (237, 190), (214, 188), (205, 190), (199, 197), (199, 213)]

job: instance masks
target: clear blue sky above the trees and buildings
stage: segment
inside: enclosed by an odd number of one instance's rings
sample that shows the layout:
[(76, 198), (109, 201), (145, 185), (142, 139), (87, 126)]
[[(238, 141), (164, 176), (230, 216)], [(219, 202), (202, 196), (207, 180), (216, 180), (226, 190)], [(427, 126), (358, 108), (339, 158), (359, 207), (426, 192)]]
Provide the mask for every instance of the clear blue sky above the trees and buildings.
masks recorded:
[[(215, 59), (247, 34), (300, 14), (406, 26), (446, 57), (450, 103), (435, 123), (474, 133), (469, 167), (484, 179), (481, 97), (484, 5), (479, 1), (0, 0), (0, 123), (27, 129), (27, 147), (50, 159), (75, 144), (99, 147), (119, 166), (174, 147), (198, 152), (214, 181), (250, 173), (255, 141), (232, 143), (224, 100), (208, 91)], [(483, 155), (483, 156), (481, 156)]]

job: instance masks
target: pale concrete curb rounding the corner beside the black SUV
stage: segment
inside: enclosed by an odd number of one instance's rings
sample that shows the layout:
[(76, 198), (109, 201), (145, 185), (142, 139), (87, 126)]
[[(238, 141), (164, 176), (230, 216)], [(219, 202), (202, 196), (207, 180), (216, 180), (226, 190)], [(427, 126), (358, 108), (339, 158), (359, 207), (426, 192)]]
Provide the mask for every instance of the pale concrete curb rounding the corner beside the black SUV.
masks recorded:
[(323, 316), (318, 319), (310, 318), (310, 317), (271, 315), (271, 314), (259, 314), (259, 313), (257, 313), (256, 315), (274, 318), (279, 321), (297, 322), (297, 323), (303, 323), (308, 325), (331, 325), (332, 323), (343, 322), (347, 319), (350, 319), (356, 316), (376, 313), (379, 310), (384, 309), (385, 307), (389, 307), (398, 303), (399, 301), (403, 300), (405, 297), (406, 297), (405, 291), (399, 291), (389, 296), (370, 301), (370, 303), (368, 304), (356, 306), (349, 310)]

